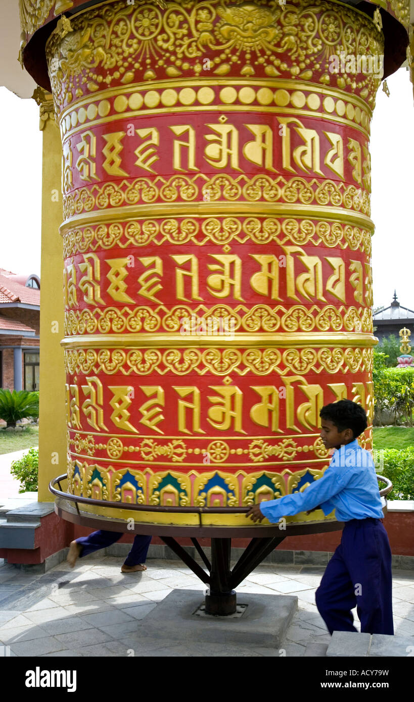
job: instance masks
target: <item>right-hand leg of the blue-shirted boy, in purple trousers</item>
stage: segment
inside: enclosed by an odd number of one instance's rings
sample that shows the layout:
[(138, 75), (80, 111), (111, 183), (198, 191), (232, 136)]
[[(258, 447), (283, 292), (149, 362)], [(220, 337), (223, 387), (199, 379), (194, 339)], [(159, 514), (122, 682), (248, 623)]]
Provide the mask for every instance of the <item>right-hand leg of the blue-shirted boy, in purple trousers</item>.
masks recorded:
[(354, 583), (361, 632), (394, 634), (391, 549), (380, 520), (355, 521), (347, 529), (344, 557)]

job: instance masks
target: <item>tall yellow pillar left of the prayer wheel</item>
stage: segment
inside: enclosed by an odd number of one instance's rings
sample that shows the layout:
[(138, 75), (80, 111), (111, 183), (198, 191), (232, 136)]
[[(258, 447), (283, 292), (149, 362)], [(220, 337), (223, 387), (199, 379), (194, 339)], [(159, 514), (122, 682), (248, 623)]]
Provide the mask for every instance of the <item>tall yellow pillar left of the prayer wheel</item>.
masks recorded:
[(39, 502), (53, 498), (48, 484), (66, 472), (65, 366), (60, 340), (64, 336), (62, 145), (50, 93), (37, 88), (43, 131), (41, 191), (40, 416)]

